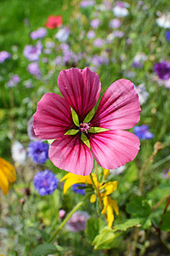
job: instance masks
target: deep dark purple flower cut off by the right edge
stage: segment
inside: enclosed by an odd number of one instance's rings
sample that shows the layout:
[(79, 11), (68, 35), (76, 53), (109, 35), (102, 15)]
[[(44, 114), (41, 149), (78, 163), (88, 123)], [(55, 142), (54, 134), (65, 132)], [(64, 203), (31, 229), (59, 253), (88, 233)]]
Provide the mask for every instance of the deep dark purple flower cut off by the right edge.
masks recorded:
[(169, 61), (161, 61), (155, 64), (154, 71), (156, 75), (162, 79), (167, 80), (170, 78), (170, 62)]

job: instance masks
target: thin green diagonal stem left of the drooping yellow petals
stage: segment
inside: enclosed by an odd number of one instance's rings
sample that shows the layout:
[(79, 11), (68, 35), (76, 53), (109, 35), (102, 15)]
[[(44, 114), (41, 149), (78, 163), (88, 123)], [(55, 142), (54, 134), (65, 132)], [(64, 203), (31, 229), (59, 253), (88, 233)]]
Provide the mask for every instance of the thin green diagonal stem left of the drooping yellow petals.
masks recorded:
[(71, 210), (71, 212), (69, 212), (69, 214), (65, 217), (65, 219), (63, 220), (63, 222), (59, 225), (59, 227), (57, 228), (57, 230), (54, 231), (54, 234), (49, 238), (48, 243), (53, 241), (55, 236), (57, 236), (57, 234), (59, 233), (59, 231), (65, 226), (65, 224), (67, 223), (67, 221), (71, 218), (71, 216), (73, 215), (74, 212), (77, 212), (78, 208), (82, 207), (82, 204), (86, 201), (86, 199), (88, 199), (89, 195), (85, 196), (85, 198), (83, 199), (83, 201), (80, 201), (77, 203), (77, 205)]

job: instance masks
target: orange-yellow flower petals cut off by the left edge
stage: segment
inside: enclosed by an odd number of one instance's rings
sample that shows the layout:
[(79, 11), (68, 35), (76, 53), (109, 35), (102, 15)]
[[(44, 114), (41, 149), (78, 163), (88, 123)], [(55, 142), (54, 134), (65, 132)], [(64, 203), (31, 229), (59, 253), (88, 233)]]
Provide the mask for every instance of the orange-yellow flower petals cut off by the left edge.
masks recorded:
[(14, 183), (15, 180), (14, 166), (0, 157), (0, 188), (3, 190), (3, 195), (7, 195), (9, 183)]

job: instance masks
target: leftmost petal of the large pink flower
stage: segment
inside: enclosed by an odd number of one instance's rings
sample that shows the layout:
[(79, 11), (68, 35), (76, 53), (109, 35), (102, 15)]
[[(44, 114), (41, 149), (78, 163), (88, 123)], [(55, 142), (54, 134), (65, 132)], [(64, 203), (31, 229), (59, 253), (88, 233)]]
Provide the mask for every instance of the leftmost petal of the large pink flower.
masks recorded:
[(55, 93), (46, 93), (37, 103), (34, 113), (34, 132), (42, 139), (55, 139), (75, 128), (71, 108), (65, 99)]

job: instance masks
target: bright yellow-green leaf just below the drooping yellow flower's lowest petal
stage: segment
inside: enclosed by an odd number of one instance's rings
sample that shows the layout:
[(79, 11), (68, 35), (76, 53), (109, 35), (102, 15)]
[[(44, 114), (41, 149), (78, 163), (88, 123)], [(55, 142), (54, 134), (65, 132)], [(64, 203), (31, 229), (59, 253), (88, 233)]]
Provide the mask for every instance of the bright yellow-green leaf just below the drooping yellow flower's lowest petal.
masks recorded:
[(104, 228), (101, 233), (94, 238), (92, 245), (95, 250), (109, 250), (114, 247), (119, 247), (122, 237), (122, 233), (114, 233), (109, 228)]

